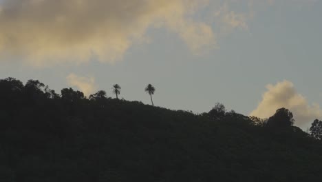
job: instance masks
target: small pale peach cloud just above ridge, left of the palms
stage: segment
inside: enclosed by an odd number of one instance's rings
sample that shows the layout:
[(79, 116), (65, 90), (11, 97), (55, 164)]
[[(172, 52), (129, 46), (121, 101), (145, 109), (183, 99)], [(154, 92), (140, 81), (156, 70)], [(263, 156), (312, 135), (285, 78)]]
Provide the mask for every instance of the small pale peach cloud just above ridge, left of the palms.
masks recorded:
[(67, 76), (67, 83), (72, 87), (77, 87), (86, 96), (93, 94), (96, 90), (96, 83), (94, 77), (79, 77), (72, 73)]

